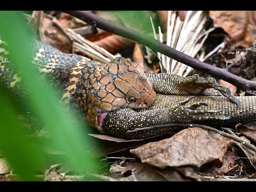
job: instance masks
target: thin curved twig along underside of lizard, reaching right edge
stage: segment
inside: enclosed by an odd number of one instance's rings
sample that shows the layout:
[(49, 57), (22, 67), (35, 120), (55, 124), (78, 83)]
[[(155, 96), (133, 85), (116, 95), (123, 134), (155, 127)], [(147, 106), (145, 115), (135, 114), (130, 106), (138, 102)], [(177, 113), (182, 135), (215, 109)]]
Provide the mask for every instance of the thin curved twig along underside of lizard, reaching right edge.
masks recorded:
[[(245, 147), (253, 150), (256, 153), (256, 147), (254, 145), (252, 145), (251, 143), (246, 142), (243, 139), (240, 139), (239, 137), (237, 137), (236, 135), (231, 135), (229, 133), (225, 133), (225, 132), (221, 132), (218, 129), (215, 129), (213, 127), (210, 126), (206, 126), (206, 125), (199, 125), (199, 124), (188, 124), (188, 123), (171, 123), (171, 124), (165, 124), (165, 125), (157, 125), (157, 126), (149, 126), (149, 127), (143, 127), (143, 128), (135, 128), (134, 130), (131, 131), (126, 131), (126, 133), (132, 133), (132, 132), (137, 132), (137, 131), (145, 131), (145, 130), (151, 130), (151, 129), (160, 129), (163, 127), (170, 127), (170, 131), (173, 130), (177, 130), (180, 129), (178, 127), (185, 127), (185, 126), (194, 126), (194, 127), (200, 127), (209, 131), (213, 131), (216, 133), (221, 133), (222, 136), (229, 138), (229, 139), (233, 139), (236, 142), (239, 142), (241, 145), (244, 145)], [(226, 128), (223, 128), (223, 130), (227, 130)]]

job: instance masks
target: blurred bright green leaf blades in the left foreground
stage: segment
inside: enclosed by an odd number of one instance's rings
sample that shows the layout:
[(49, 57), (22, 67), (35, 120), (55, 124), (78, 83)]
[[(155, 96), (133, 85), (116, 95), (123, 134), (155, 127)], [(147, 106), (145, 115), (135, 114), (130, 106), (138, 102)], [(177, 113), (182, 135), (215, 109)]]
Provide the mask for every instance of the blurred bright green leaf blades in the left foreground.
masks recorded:
[(42, 171), (49, 162), (47, 150), (60, 150), (68, 163), (81, 173), (93, 173), (98, 167), (92, 161), (90, 151), (97, 143), (86, 134), (86, 124), (66, 112), (57, 100), (52, 87), (47, 86), (39, 77), (37, 69), (31, 64), (33, 58), (33, 33), (27, 26), (21, 11), (0, 12), (0, 34), (7, 42), (7, 49), (15, 67), (19, 71), (27, 97), (20, 102), (31, 106), (50, 137), (38, 142), (28, 136), (24, 125), (17, 118), (17, 109), (11, 102), (6, 90), (0, 85), (0, 151), (18, 175), (18, 180), (37, 180), (34, 174)]

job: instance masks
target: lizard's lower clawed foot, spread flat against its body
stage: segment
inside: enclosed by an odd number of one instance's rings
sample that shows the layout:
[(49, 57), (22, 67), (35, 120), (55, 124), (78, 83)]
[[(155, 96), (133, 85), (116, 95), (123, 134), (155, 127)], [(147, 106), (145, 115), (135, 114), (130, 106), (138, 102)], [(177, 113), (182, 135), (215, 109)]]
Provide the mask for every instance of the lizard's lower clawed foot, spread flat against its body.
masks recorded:
[(169, 110), (170, 117), (175, 117), (177, 123), (192, 123), (195, 121), (203, 121), (210, 119), (219, 119), (219, 120), (227, 120), (230, 117), (226, 117), (223, 115), (212, 115), (214, 113), (220, 113), (222, 110), (207, 110), (207, 109), (197, 109), (201, 106), (207, 106), (205, 102), (194, 102), (190, 105), (186, 105), (192, 98), (195, 96), (191, 96), (183, 101), (178, 102)]

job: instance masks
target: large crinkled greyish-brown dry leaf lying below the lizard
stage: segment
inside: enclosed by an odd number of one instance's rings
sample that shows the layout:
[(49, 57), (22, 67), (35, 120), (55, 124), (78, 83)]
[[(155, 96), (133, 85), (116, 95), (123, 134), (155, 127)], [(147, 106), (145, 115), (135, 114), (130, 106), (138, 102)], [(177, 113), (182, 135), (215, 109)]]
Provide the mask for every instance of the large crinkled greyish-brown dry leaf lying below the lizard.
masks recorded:
[(222, 161), (232, 140), (200, 128), (182, 130), (172, 138), (150, 142), (131, 149), (131, 153), (148, 163), (164, 169), (169, 166), (200, 167), (212, 161)]

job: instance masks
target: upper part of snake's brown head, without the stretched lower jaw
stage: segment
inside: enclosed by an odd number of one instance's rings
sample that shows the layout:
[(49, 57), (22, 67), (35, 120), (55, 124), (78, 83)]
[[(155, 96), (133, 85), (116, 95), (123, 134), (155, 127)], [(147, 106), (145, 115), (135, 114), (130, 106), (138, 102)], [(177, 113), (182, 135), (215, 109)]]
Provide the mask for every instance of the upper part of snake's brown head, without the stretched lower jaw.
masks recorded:
[(140, 109), (153, 104), (156, 93), (140, 65), (116, 58), (107, 66), (106, 75), (111, 77), (111, 81), (106, 85), (107, 95), (101, 99), (99, 108), (107, 111), (120, 107)]

